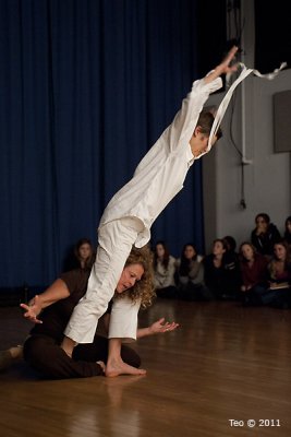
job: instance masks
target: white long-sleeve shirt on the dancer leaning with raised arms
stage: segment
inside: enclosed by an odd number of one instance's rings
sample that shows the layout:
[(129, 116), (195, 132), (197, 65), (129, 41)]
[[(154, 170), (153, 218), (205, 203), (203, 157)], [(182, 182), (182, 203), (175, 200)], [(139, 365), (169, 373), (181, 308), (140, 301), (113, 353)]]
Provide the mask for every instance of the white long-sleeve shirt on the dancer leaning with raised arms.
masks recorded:
[(150, 226), (172, 198), (183, 188), (186, 173), (194, 162), (190, 140), (209, 94), (222, 86), (221, 78), (206, 84), (198, 80), (183, 99), (172, 123), (141, 161), (133, 178), (108, 203), (99, 227), (125, 216), (140, 218), (144, 229), (135, 246), (150, 239)]

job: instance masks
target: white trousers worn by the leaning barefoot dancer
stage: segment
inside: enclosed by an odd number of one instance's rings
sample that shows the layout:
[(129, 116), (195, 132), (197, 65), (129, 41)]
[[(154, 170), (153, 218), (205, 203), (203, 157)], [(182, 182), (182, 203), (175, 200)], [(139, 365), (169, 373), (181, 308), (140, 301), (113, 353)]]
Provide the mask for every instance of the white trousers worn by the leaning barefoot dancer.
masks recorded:
[[(114, 220), (98, 232), (98, 248), (86, 294), (75, 306), (64, 334), (77, 343), (92, 343), (98, 319), (107, 310), (132, 246), (144, 224), (135, 217)], [(136, 339), (140, 303), (114, 299), (109, 338)]]

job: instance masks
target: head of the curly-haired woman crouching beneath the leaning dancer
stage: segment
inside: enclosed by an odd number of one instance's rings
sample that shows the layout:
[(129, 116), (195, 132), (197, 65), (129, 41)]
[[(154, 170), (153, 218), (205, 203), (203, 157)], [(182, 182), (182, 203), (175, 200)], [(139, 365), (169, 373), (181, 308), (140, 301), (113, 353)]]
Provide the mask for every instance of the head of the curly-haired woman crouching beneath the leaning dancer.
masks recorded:
[(129, 296), (133, 302), (141, 299), (147, 307), (155, 296), (153, 285), (153, 253), (148, 246), (133, 247), (117, 285), (117, 296)]

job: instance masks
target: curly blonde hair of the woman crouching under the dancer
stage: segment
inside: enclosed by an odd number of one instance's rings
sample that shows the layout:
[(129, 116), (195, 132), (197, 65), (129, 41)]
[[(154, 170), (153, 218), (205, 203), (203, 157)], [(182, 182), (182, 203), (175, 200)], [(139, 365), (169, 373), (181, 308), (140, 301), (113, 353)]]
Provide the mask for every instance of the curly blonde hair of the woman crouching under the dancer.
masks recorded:
[(142, 308), (147, 308), (153, 304), (153, 298), (156, 297), (154, 291), (153, 252), (149, 247), (137, 248), (133, 246), (124, 267), (130, 264), (141, 264), (144, 269), (144, 274), (141, 281), (136, 281), (133, 287), (126, 290), (124, 293), (117, 294), (116, 298), (128, 296), (134, 303), (141, 299)]

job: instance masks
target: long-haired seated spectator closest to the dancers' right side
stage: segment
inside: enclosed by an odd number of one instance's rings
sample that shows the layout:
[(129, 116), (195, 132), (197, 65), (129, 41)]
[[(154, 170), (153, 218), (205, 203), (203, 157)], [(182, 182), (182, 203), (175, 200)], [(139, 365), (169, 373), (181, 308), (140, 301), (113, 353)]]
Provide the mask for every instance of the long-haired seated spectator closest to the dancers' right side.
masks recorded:
[(175, 297), (175, 259), (165, 241), (158, 241), (154, 249), (154, 286), (158, 297)]

